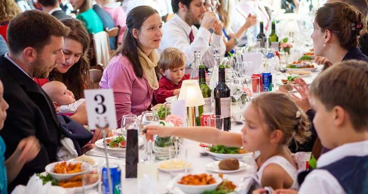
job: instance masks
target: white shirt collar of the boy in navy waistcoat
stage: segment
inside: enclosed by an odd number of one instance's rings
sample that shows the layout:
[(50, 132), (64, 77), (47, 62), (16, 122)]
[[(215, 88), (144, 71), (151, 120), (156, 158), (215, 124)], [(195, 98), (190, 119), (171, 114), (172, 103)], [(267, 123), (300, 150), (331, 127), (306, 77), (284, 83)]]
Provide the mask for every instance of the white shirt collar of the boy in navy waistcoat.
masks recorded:
[(317, 161), (317, 167), (323, 167), (347, 156), (368, 155), (368, 140), (353, 143), (345, 143), (329, 152), (321, 155)]

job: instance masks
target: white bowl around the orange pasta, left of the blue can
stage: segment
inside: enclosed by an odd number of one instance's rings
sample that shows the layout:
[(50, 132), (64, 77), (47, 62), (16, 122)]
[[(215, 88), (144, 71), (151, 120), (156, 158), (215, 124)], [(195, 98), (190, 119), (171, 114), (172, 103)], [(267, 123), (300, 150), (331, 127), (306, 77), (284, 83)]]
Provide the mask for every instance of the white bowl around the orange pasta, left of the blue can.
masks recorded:
[(45, 167), (45, 171), (51, 175), (53, 178), (55, 178), (56, 180), (60, 181), (60, 180), (68, 180), (68, 179), (71, 179), (77, 175), (81, 175), (81, 174), (84, 174), (86, 172), (89, 171), (89, 168), (90, 168), (90, 165), (86, 162), (78, 162), (78, 161), (67, 161), (66, 164), (69, 164), (69, 163), (72, 163), (72, 164), (75, 164), (75, 163), (82, 163), (82, 166), (81, 166), (81, 172), (79, 173), (73, 173), (73, 174), (58, 174), (58, 173), (54, 173), (54, 167), (57, 163), (61, 163), (61, 162), (54, 162), (54, 163), (51, 163), (51, 164), (48, 164), (46, 167)]

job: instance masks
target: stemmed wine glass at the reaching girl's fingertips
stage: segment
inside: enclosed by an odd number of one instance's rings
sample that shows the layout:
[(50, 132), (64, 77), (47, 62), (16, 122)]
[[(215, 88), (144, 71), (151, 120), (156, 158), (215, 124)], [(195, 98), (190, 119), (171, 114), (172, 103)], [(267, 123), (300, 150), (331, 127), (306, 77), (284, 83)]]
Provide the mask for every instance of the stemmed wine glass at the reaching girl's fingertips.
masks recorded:
[[(159, 117), (157, 112), (155, 111), (145, 111), (142, 113), (142, 117), (141, 117), (141, 130), (140, 134), (143, 134), (143, 129), (146, 126), (149, 125), (159, 125)], [(152, 149), (153, 149), (153, 143), (152, 140), (149, 140), (147, 142), (146, 138), (145, 139), (145, 145), (146, 145), (146, 154), (147, 154), (147, 158), (144, 158), (144, 160), (148, 159), (149, 161), (153, 160), (153, 155), (152, 155)]]

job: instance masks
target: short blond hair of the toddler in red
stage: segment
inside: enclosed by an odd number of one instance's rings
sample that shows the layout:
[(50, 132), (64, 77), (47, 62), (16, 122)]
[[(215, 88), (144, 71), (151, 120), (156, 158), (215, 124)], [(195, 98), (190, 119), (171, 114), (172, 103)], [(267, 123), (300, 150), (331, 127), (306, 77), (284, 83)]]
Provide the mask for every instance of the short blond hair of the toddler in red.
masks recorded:
[(174, 69), (186, 64), (185, 54), (174, 47), (168, 47), (162, 51), (160, 59), (158, 61), (158, 68)]

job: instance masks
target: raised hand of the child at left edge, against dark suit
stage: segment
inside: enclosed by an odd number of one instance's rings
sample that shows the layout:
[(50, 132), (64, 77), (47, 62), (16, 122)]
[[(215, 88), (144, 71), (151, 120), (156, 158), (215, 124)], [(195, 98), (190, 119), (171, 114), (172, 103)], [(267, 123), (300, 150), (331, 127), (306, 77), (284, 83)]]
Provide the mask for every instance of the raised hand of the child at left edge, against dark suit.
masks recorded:
[(33, 160), (40, 151), (40, 144), (35, 136), (29, 136), (20, 140), (15, 152), (18, 154), (18, 162), (27, 163)]

